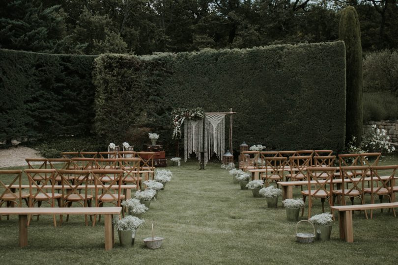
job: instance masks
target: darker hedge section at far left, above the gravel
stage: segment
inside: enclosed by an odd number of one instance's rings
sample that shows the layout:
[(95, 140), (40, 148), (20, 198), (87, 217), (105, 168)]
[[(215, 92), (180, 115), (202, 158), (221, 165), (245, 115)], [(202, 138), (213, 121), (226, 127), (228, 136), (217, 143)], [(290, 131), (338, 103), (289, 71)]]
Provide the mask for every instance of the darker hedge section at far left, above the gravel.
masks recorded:
[(0, 140), (90, 132), (94, 58), (0, 49)]

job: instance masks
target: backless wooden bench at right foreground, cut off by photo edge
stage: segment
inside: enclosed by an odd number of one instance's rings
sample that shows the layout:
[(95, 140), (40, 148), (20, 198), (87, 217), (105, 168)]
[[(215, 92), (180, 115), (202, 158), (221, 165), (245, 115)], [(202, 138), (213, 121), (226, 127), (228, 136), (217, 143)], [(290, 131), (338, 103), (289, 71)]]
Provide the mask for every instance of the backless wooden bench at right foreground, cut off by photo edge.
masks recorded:
[(334, 211), (339, 211), (340, 238), (347, 241), (348, 243), (354, 242), (354, 233), (352, 228), (352, 211), (357, 211), (357, 210), (366, 211), (366, 210), (389, 209), (389, 208), (398, 208), (398, 202), (330, 207), (330, 209)]

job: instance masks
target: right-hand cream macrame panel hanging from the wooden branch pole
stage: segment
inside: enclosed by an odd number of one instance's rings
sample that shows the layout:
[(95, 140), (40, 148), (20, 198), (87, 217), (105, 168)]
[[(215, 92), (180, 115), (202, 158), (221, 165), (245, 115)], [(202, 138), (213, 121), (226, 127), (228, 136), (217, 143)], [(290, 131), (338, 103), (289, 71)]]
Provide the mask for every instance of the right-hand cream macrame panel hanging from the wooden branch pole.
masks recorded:
[(216, 153), (219, 159), (223, 158), (225, 147), (225, 114), (205, 114), (204, 135), (204, 164)]

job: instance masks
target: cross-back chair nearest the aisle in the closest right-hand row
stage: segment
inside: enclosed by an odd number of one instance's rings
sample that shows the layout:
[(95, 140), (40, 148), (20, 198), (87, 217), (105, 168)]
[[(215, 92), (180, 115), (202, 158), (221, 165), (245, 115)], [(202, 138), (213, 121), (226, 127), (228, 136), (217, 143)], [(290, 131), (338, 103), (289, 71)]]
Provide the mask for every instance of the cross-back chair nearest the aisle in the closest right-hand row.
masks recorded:
[[(308, 167), (307, 168), (307, 190), (302, 190), (304, 202), (306, 198), (308, 200), (308, 219), (311, 218), (311, 210), (313, 206), (313, 201), (315, 199), (320, 199), (322, 202), (322, 212), (325, 212), (325, 200), (329, 203), (329, 207), (332, 206), (332, 190), (333, 184), (332, 180), (336, 172), (336, 167)], [(318, 176), (327, 175), (327, 178), (318, 178)], [(311, 184), (311, 181), (315, 181), (316, 184)], [(301, 211), (301, 216), (304, 214), (304, 207)]]

